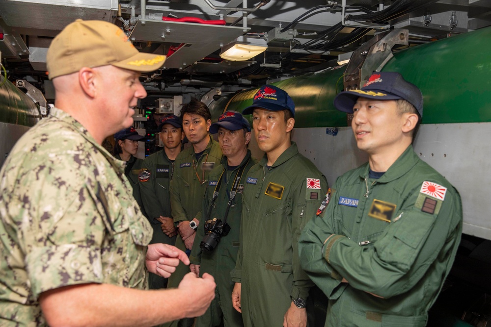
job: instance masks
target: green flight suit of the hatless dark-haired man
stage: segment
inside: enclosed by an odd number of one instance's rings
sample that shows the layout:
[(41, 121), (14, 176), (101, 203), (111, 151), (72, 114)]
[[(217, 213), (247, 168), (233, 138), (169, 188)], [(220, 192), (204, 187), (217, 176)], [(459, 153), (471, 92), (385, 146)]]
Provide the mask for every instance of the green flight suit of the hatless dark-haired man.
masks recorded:
[[(208, 185), (208, 174), (220, 163), (220, 146), (211, 136), (205, 151), (196, 161), (193, 147), (181, 151), (174, 162), (174, 174), (170, 180), (170, 204), (172, 218), (175, 223), (183, 220), (197, 220), (201, 217), (203, 196)], [(205, 163), (203, 165), (203, 163)], [(204, 168), (204, 169), (203, 169)], [(203, 182), (204, 181), (204, 182)], [(181, 237), (176, 239), (176, 247), (186, 251), (186, 246)], [(169, 277), (167, 287), (177, 287), (184, 275), (189, 273), (189, 266), (182, 262), (176, 267), (176, 271)], [(177, 326), (172, 323), (170, 326)]]

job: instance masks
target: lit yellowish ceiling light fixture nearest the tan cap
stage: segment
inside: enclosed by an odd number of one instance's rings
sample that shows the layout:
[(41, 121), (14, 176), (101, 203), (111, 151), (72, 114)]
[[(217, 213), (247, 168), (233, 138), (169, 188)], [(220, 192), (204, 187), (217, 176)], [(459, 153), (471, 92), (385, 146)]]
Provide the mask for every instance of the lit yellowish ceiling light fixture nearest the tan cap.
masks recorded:
[(255, 57), (268, 49), (263, 39), (239, 37), (234, 42), (221, 48), (220, 57), (230, 61), (244, 61)]

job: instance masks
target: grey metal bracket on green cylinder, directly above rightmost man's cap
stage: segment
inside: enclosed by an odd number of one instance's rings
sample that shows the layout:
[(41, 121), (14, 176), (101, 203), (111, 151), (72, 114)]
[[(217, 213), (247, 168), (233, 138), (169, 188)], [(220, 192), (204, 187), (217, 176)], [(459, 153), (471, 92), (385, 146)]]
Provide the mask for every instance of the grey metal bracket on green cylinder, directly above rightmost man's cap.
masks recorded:
[(383, 66), (393, 57), (394, 45), (408, 45), (409, 31), (396, 28), (376, 35), (351, 56), (344, 75), (344, 90), (357, 90), (372, 72), (380, 72)]

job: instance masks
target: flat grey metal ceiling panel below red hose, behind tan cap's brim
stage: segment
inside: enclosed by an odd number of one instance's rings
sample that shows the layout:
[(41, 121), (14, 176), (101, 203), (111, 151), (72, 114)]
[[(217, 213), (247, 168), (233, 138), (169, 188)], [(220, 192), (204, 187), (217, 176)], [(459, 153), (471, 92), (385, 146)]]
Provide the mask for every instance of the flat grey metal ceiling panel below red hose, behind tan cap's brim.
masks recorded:
[(206, 25), (140, 19), (133, 29), (132, 41), (184, 43), (167, 58), (164, 68), (185, 69), (248, 31), (237, 26)]

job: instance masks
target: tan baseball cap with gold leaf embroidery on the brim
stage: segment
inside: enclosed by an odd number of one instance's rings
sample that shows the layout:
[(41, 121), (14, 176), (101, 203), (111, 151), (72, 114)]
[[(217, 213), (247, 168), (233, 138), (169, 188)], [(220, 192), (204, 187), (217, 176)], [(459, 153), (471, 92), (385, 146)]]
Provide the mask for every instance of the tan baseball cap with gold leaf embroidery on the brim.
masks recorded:
[(49, 78), (78, 72), (82, 67), (113, 65), (137, 72), (152, 72), (165, 56), (136, 50), (118, 26), (105, 21), (67, 25), (51, 42), (46, 56)]

